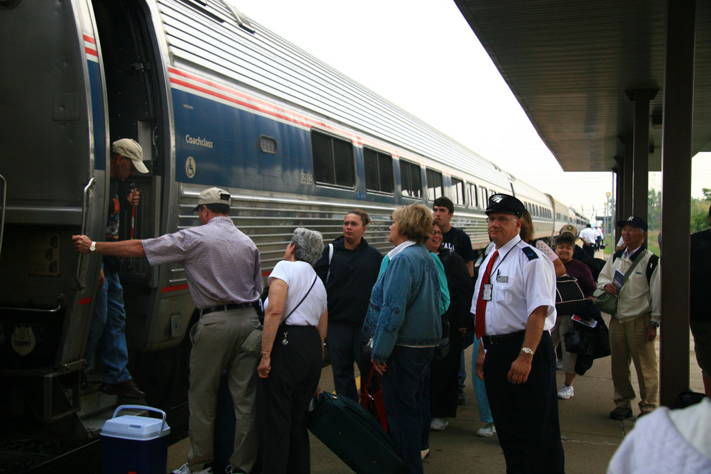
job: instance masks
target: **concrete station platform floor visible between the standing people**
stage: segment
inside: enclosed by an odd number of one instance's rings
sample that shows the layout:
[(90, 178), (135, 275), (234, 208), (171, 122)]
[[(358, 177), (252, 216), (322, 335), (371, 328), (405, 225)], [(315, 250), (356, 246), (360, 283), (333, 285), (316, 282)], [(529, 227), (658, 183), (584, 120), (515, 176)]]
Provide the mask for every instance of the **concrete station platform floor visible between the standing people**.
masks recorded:
[[(606, 317), (609, 321), (609, 316)], [(657, 338), (663, 337), (663, 328)], [(690, 338), (690, 388), (703, 392), (701, 371), (696, 364)], [(465, 351), (467, 381), (465, 387), (466, 404), (459, 406), (456, 419), (449, 419), (444, 431), (432, 431), (429, 437), (430, 455), (424, 460), (425, 473), (461, 473), (483, 470), (487, 473), (506, 472), (506, 463), (496, 436), (481, 438), (476, 430), (485, 426), (479, 421), (474, 389), (471, 387), (471, 347)], [(638, 393), (634, 367), (632, 383)], [(563, 383), (563, 372), (557, 371), (558, 386)], [(634, 428), (634, 418), (624, 421), (609, 419), (614, 409), (612, 402), (612, 380), (610, 358), (594, 362), (592, 368), (574, 382), (575, 395), (569, 400), (559, 400), (560, 431), (565, 450), (565, 470), (567, 473), (604, 473), (610, 458), (622, 439)], [(333, 390), (333, 376), (330, 367), (321, 373), (321, 389)], [(633, 402), (635, 416), (638, 399)], [(314, 474), (348, 473), (351, 470), (336, 455), (314, 436), (311, 436), (311, 472)], [(189, 448), (188, 438), (169, 448), (169, 472), (186, 462)], [(216, 473), (218, 474), (218, 473)], [(219, 473), (221, 474), (221, 473)]]

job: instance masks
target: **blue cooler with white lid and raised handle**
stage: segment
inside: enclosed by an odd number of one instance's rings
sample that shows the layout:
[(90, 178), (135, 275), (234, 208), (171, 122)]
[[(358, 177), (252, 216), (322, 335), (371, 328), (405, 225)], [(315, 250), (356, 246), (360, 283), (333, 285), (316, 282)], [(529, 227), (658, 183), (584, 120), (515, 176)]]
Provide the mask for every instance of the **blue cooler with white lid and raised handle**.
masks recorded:
[[(154, 411), (162, 419), (147, 416), (117, 416), (119, 411), (133, 409)], [(166, 412), (151, 406), (121, 405), (101, 429), (102, 474), (165, 473), (171, 433)]]

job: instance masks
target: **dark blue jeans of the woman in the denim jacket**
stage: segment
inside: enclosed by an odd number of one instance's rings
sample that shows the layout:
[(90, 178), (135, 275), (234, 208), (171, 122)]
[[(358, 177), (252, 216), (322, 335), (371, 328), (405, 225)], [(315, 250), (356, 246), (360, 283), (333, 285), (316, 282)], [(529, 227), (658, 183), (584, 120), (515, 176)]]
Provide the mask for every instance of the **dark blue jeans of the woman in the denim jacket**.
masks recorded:
[(422, 400), (434, 348), (396, 345), (383, 375), (383, 399), (392, 442), (405, 472), (422, 473)]

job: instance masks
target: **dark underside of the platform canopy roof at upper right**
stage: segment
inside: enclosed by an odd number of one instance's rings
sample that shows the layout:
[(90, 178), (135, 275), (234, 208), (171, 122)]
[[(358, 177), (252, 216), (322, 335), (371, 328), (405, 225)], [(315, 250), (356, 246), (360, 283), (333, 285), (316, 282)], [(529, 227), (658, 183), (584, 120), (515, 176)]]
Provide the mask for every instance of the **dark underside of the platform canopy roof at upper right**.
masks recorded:
[[(655, 90), (661, 169), (666, 1), (455, 0), (565, 171), (609, 171), (631, 139), (628, 92)], [(711, 151), (711, 2), (697, 1), (693, 154)]]

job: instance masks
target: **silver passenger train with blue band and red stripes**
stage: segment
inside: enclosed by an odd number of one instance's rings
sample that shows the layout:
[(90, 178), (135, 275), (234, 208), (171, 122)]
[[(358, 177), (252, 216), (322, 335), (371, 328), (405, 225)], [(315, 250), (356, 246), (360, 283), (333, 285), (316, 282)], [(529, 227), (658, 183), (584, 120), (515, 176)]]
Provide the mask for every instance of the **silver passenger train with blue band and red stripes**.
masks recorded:
[[(146, 175), (122, 238), (198, 225), (198, 193), (232, 194), (230, 217), (264, 277), (295, 227), (341, 235), (352, 208), (381, 251), (392, 210), (449, 197), (452, 224), (488, 244), (492, 193), (523, 201), (535, 237), (587, 220), (275, 35), (223, 0), (0, 0), (0, 416), (77, 440), (115, 397), (82, 389), (100, 257), (71, 236), (105, 232), (112, 141), (133, 138)], [(127, 213), (129, 210), (123, 210)], [(122, 222), (132, 221), (122, 215)], [(124, 259), (131, 365), (146, 402), (184, 402), (196, 321), (179, 264)]]

